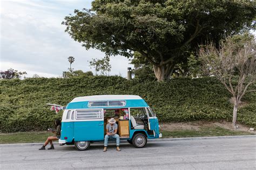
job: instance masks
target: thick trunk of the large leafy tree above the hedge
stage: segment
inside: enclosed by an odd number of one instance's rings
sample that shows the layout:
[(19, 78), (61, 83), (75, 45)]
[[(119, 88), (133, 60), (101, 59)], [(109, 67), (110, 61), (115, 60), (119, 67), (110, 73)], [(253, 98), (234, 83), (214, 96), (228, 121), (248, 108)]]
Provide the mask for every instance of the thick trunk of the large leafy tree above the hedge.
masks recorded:
[(170, 79), (174, 70), (174, 64), (154, 65), (154, 74), (158, 81), (165, 81)]

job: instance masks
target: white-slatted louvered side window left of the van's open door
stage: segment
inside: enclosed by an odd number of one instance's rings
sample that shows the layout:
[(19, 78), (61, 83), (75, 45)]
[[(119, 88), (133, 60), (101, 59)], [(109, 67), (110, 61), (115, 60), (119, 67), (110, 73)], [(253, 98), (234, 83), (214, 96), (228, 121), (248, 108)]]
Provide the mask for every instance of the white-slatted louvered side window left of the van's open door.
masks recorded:
[(102, 119), (102, 110), (77, 110), (76, 119)]

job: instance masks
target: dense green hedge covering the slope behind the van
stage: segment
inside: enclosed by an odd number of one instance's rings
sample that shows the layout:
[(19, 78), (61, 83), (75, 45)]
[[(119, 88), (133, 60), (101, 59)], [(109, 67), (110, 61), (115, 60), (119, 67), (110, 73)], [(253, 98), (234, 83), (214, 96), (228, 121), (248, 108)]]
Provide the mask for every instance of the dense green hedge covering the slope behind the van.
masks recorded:
[[(1, 132), (45, 130), (62, 113), (46, 103), (66, 105), (78, 96), (139, 95), (154, 108), (160, 121), (232, 120), (231, 97), (215, 78), (177, 78), (169, 82), (126, 80), (118, 76), (87, 78), (27, 78), (0, 80)], [(255, 88), (255, 86), (254, 86)], [(256, 89), (256, 88), (255, 88)], [(238, 121), (256, 126), (256, 95), (247, 94)]]

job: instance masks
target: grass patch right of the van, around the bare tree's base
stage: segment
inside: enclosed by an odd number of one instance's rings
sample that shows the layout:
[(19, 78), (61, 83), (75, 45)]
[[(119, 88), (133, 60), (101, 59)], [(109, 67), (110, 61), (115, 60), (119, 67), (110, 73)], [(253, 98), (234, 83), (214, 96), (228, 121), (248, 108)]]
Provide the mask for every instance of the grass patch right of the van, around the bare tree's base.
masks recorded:
[(232, 131), (219, 126), (199, 127), (198, 130), (161, 131), (163, 138), (214, 137), (229, 135), (248, 135), (250, 132)]

